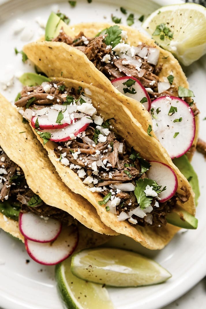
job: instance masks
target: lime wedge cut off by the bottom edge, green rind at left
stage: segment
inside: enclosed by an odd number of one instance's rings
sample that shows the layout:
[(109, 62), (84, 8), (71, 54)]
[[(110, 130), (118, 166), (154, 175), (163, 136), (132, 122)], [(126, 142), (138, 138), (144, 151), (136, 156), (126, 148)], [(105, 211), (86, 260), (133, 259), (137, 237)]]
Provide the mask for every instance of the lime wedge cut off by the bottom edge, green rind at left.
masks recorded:
[(105, 288), (75, 277), (70, 271), (71, 257), (55, 268), (57, 288), (69, 309), (114, 309)]

